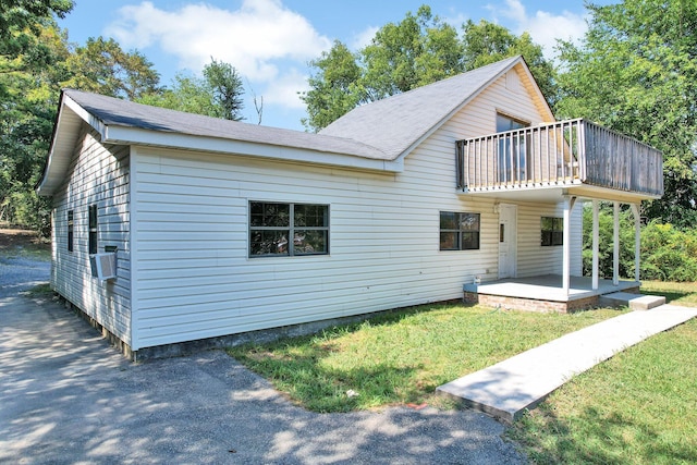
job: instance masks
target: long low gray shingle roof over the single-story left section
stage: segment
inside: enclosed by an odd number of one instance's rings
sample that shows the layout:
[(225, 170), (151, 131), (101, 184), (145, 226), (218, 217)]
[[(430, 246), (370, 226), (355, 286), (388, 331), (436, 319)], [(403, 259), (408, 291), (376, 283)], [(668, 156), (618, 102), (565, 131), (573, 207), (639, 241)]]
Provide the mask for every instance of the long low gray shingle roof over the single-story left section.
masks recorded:
[(358, 139), (222, 120), (134, 103), (80, 90), (66, 89), (64, 95), (73, 99), (107, 126), (137, 127), (201, 137), (345, 154), (376, 160), (387, 159), (382, 150), (364, 144)]

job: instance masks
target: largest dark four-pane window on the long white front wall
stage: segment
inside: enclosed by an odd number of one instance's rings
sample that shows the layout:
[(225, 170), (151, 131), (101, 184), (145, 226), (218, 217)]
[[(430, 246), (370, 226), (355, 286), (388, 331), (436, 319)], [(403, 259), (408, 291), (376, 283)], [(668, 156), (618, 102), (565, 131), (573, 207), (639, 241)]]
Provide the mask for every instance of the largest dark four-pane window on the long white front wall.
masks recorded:
[(328, 205), (249, 203), (249, 257), (327, 254)]

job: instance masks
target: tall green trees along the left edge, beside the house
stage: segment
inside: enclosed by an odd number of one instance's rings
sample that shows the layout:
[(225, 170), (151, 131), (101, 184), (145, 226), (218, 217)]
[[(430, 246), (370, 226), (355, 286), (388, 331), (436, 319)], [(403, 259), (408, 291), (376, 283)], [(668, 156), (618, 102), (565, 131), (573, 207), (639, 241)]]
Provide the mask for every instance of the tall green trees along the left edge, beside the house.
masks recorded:
[(53, 21), (71, 1), (0, 0), (0, 219), (46, 234), (49, 203), (34, 185), (41, 175), (56, 119), (66, 36)]

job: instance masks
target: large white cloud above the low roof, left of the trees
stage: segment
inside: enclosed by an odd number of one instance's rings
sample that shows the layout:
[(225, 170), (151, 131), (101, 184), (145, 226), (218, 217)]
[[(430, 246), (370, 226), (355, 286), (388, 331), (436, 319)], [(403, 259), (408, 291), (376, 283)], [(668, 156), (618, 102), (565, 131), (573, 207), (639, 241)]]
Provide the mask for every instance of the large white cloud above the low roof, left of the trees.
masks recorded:
[(277, 78), (279, 60), (304, 64), (331, 46), (280, 0), (244, 0), (235, 11), (206, 3), (166, 11), (144, 1), (121, 8), (107, 33), (124, 48), (156, 46), (176, 57), (181, 68), (198, 72), (212, 57), (258, 82)]

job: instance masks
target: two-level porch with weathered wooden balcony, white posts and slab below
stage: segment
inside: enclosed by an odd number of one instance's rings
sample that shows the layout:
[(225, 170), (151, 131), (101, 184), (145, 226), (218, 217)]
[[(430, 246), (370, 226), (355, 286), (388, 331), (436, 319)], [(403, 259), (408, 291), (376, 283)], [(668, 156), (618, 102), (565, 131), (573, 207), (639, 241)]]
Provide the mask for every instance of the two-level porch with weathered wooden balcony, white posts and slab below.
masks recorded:
[[(663, 195), (660, 150), (576, 119), (457, 140), (455, 160), (456, 187), (463, 195), (493, 198), (497, 205), (517, 201), (563, 205), (562, 276), (535, 278), (530, 282), (500, 282), (504, 286), (499, 287), (487, 287), (497, 283), (485, 284), (475, 293), (481, 296), (479, 302), (485, 298), (494, 305), (504, 305), (517, 298), (521, 299), (516, 301), (518, 306), (525, 306), (525, 299), (542, 298), (540, 302), (547, 302), (550, 309), (568, 311), (596, 305), (600, 295), (624, 291), (625, 285), (638, 292), (640, 204)], [(598, 212), (599, 203), (603, 200), (613, 205), (611, 281), (600, 280), (598, 268)], [(574, 278), (571, 276), (571, 217), (574, 208), (585, 201), (592, 203), (592, 278)], [(629, 281), (633, 285), (620, 281), (621, 204), (631, 206), (635, 219), (635, 279)], [(506, 295), (506, 292), (521, 295)], [(485, 297), (487, 295), (499, 295), (501, 302)]]

